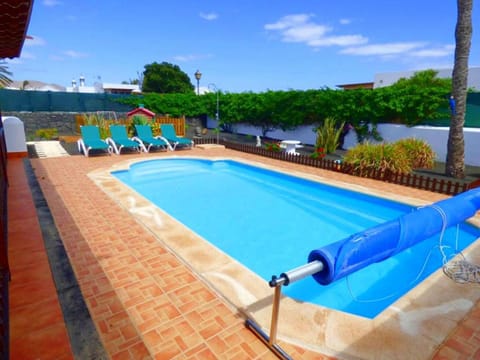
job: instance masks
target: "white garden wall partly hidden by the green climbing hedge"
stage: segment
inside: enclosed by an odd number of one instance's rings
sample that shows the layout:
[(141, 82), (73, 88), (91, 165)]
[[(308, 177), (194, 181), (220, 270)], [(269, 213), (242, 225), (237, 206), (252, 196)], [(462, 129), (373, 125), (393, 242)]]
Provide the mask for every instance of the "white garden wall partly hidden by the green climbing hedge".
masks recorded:
[[(207, 119), (207, 127), (215, 128), (217, 126), (214, 119)], [(234, 132), (245, 135), (262, 135), (260, 128), (248, 125), (235, 125)], [(407, 137), (423, 139), (430, 144), (433, 151), (437, 154), (437, 160), (445, 162), (447, 157), (448, 127), (433, 126), (415, 126), (407, 127), (405, 125), (379, 124), (378, 131), (385, 142), (394, 142)], [(465, 164), (480, 166), (480, 129), (464, 128), (465, 138)], [(316, 135), (313, 132), (313, 126), (300, 126), (293, 131), (276, 130), (269, 132), (268, 137), (280, 140), (300, 140), (304, 144), (313, 145), (316, 141)], [(349, 149), (357, 144), (355, 131), (350, 131), (345, 137), (344, 147)]]

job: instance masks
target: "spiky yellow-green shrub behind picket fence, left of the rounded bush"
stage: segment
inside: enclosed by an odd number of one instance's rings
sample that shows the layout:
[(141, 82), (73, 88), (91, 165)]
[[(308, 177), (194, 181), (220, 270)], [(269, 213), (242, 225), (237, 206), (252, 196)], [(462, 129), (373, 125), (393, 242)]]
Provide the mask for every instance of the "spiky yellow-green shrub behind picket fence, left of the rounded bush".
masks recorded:
[(410, 160), (404, 151), (398, 151), (395, 144), (363, 143), (349, 149), (343, 162), (353, 167), (358, 176), (368, 176), (372, 171), (382, 174), (412, 172)]

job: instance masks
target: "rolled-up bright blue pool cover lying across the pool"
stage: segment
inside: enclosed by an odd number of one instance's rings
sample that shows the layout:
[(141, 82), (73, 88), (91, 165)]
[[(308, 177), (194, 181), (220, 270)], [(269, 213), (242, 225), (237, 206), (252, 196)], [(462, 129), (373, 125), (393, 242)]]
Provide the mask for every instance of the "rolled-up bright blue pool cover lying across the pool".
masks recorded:
[(308, 262), (323, 264), (313, 278), (330, 284), (467, 220), (479, 209), (480, 188), (476, 188), (313, 250)]

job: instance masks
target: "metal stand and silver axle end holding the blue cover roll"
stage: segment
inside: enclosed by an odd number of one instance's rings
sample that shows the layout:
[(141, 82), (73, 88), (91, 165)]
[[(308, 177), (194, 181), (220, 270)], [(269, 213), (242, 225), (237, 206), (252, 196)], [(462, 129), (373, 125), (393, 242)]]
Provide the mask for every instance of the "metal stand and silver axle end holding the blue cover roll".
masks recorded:
[(309, 275), (313, 275), (323, 270), (323, 263), (315, 260), (298, 268), (280, 274), (280, 276), (272, 276), (272, 280), (268, 282), (270, 287), (275, 288), (273, 296), (272, 306), (272, 319), (270, 323), (270, 336), (268, 336), (262, 328), (252, 319), (245, 321), (245, 326), (257, 335), (265, 345), (268, 346), (272, 352), (277, 355), (278, 358), (283, 360), (292, 360), (278, 344), (277, 344), (277, 328), (278, 328), (278, 315), (280, 313), (280, 298), (282, 295), (282, 285), (289, 285), (296, 281), (299, 281)]

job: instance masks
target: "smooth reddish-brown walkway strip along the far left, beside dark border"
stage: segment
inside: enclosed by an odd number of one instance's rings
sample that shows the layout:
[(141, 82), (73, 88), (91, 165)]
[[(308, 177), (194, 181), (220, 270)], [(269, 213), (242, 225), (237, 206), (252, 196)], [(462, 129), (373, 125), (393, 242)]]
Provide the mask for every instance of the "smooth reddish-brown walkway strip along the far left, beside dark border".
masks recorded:
[(8, 159), (10, 359), (73, 359), (22, 159)]

